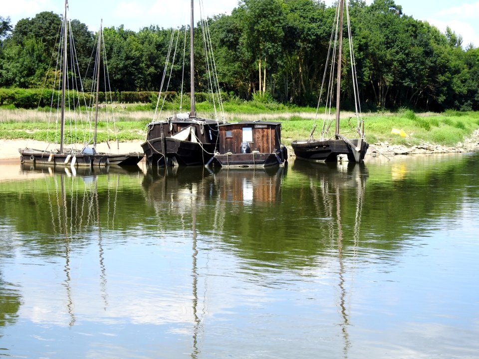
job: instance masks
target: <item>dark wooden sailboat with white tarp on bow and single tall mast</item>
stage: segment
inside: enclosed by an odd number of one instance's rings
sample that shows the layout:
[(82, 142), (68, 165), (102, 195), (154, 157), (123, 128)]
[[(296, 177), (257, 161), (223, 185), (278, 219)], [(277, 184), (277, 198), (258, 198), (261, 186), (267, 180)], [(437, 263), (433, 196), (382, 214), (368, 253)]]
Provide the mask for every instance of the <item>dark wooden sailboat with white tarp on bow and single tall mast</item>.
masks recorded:
[(197, 116), (195, 109), (193, 1), (190, 25), (191, 109), (188, 114), (148, 124), (146, 141), (141, 147), (148, 164), (152, 166), (206, 165), (213, 157), (218, 141), (218, 121)]

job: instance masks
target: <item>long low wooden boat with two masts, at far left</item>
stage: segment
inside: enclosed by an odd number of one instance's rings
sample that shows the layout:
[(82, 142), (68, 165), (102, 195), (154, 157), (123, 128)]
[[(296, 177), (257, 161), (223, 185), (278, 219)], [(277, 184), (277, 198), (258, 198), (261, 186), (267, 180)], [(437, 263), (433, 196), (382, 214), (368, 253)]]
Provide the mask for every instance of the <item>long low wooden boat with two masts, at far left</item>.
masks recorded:
[[(98, 84), (99, 84), (99, 75), (100, 75), (100, 49), (101, 49), (101, 39), (102, 39), (102, 29), (100, 27), (100, 32), (98, 35), (98, 51), (96, 58), (97, 66), (97, 88), (96, 88), (96, 103), (95, 103), (95, 130), (93, 138), (93, 146), (89, 147), (89, 143), (85, 145), (81, 150), (76, 148), (65, 148), (65, 102), (67, 91), (67, 76), (68, 72), (71, 72), (71, 69), (67, 68), (68, 63), (74, 63), (71, 61), (72, 55), (68, 58), (68, 41), (69, 38), (69, 29), (70, 21), (68, 19), (68, 0), (65, 1), (65, 11), (62, 19), (62, 28), (61, 28), (61, 41), (60, 41), (60, 53), (59, 58), (61, 58), (61, 101), (59, 106), (60, 111), (60, 140), (59, 148), (56, 149), (30, 149), (23, 148), (18, 149), (20, 153), (20, 162), (21, 163), (33, 163), (33, 164), (45, 164), (50, 166), (71, 166), (71, 167), (91, 167), (91, 166), (108, 166), (108, 165), (136, 165), (144, 155), (141, 152), (136, 153), (127, 153), (127, 154), (109, 154), (109, 153), (98, 153), (96, 151), (96, 135), (97, 135), (97, 122), (98, 122)], [(71, 37), (71, 36), (70, 36)], [(73, 43), (70, 43), (70, 53), (74, 53)], [(73, 70), (76, 73), (77, 69)], [(75, 81), (71, 81), (75, 83)], [(75, 89), (75, 92), (80, 93), (79, 90)], [(78, 95), (79, 96), (79, 95)], [(53, 102), (53, 101), (52, 101)], [(86, 142), (86, 141), (85, 141)]]

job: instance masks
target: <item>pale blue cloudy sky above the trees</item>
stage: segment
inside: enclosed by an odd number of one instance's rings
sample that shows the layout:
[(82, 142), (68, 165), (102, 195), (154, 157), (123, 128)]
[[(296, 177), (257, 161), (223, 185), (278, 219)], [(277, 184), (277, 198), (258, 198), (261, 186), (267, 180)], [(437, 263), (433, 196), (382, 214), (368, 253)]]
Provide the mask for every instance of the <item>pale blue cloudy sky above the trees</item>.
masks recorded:
[[(334, 0), (325, 0), (327, 5)], [(366, 0), (370, 4), (372, 0)], [(203, 14), (230, 14), (238, 0), (203, 0)], [(428, 21), (445, 32), (451, 27), (463, 37), (463, 45), (479, 46), (479, 0), (395, 0), (403, 13), (418, 20)], [(0, 0), (0, 16), (10, 17), (14, 25), (19, 19), (34, 17), (41, 11), (63, 13), (64, 0)], [(198, 0), (195, 0), (195, 18), (200, 18)], [(69, 17), (85, 23), (91, 31), (103, 26), (138, 31), (149, 25), (178, 27), (190, 22), (190, 0), (69, 0)], [(196, 21), (195, 20), (195, 21)]]

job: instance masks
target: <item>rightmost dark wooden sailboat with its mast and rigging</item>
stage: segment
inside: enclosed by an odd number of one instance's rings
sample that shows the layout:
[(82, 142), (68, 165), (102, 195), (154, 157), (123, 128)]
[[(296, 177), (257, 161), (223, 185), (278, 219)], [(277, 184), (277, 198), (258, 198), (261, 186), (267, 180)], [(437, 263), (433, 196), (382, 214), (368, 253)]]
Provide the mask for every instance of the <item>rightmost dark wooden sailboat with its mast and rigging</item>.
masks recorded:
[[(343, 37), (343, 19), (344, 19), (344, 11), (345, 11), (345, 3), (347, 0), (340, 0), (337, 4), (337, 12), (336, 12), (336, 21), (339, 21), (339, 25), (333, 26), (333, 35), (336, 34), (335, 38), (337, 43), (337, 78), (336, 78), (336, 118), (335, 118), (335, 133), (334, 138), (327, 138), (329, 127), (331, 123), (323, 122), (323, 128), (321, 131), (321, 138), (320, 140), (314, 140), (313, 133), (316, 129), (316, 123), (314, 123), (313, 128), (311, 130), (309, 139), (307, 140), (295, 140), (291, 142), (291, 147), (293, 148), (294, 154), (298, 159), (304, 160), (311, 160), (311, 161), (331, 161), (335, 162), (338, 161), (338, 155), (346, 155), (350, 162), (361, 163), (364, 160), (366, 152), (368, 150), (369, 144), (366, 142), (364, 137), (364, 121), (360, 118), (359, 115), (359, 101), (358, 101), (358, 88), (357, 82), (355, 81), (356, 78), (356, 68), (354, 63), (354, 56), (351, 58), (351, 70), (353, 74), (353, 88), (354, 88), (354, 96), (355, 96), (355, 103), (356, 103), (356, 117), (358, 119), (358, 124), (356, 130), (358, 132), (359, 138), (356, 139), (348, 139), (344, 135), (340, 133), (339, 128), (339, 116), (340, 116), (340, 84), (341, 84), (341, 65), (342, 65), (342, 37)], [(351, 40), (351, 27), (349, 24), (349, 12), (346, 4), (346, 13), (347, 13), (347, 20), (348, 20), (348, 38), (349, 38), (349, 46), (352, 49), (352, 40)], [(337, 29), (335, 31), (335, 28)], [(336, 51), (336, 45), (334, 46), (334, 50)], [(351, 51), (352, 54), (352, 51)], [(329, 58), (328, 58), (329, 59)], [(325, 76), (326, 71), (331, 68), (334, 69), (333, 66), (325, 66)], [(324, 81), (324, 80), (323, 80)], [(323, 82), (324, 85), (324, 82)], [(329, 86), (330, 89), (333, 86)], [(321, 87), (322, 93), (322, 87)], [(332, 94), (331, 94), (332, 95)], [(329, 113), (331, 99), (332, 96), (328, 94), (327, 103), (329, 103)], [(318, 102), (319, 107), (319, 102)]]

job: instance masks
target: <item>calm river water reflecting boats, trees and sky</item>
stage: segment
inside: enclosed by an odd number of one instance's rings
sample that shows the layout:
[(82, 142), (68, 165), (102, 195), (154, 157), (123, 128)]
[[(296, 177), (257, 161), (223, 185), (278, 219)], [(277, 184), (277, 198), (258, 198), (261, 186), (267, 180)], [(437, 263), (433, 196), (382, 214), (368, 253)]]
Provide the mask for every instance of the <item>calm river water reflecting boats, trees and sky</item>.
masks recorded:
[(0, 169), (2, 357), (479, 357), (478, 154)]

